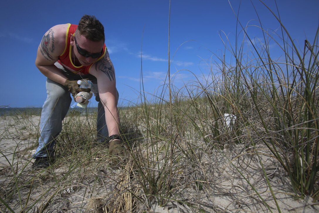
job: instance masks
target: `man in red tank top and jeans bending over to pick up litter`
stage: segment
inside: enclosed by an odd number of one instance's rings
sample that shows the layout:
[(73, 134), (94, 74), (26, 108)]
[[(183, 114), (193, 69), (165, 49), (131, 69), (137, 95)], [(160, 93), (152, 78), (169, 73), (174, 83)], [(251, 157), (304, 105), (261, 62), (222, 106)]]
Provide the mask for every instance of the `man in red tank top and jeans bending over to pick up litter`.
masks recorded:
[(77, 81), (82, 79), (93, 82), (93, 93), (99, 101), (98, 142), (109, 141), (109, 153), (119, 158), (129, 154), (119, 136), (115, 72), (104, 42), (103, 25), (88, 15), (84, 15), (78, 25), (56, 25), (43, 36), (35, 65), (47, 77), (48, 96), (41, 113), (34, 169), (46, 168), (54, 161), (56, 138), (72, 100), (70, 93), (74, 98), (80, 91), (90, 91), (79, 88)]

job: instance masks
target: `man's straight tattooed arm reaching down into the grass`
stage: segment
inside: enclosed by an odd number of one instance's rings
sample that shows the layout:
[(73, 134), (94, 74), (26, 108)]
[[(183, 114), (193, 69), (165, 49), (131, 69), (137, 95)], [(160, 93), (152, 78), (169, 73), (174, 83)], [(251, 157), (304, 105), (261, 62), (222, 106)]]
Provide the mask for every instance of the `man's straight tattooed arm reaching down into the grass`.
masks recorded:
[(108, 51), (90, 69), (90, 74), (97, 78), (100, 101), (105, 109), (108, 134), (119, 135), (120, 117), (117, 111), (115, 72)]

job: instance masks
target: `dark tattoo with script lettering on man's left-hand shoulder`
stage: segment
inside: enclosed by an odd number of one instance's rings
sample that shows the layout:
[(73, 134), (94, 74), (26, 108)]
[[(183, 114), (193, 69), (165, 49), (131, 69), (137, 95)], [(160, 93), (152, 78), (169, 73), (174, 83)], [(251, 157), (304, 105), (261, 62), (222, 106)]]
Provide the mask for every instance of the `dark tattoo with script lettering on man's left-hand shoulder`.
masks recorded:
[[(50, 46), (51, 45), (51, 46)], [(48, 61), (54, 61), (55, 59), (52, 57), (50, 53), (54, 52), (54, 31), (50, 29), (46, 35), (42, 37), (40, 43), (40, 51), (45, 59)]]

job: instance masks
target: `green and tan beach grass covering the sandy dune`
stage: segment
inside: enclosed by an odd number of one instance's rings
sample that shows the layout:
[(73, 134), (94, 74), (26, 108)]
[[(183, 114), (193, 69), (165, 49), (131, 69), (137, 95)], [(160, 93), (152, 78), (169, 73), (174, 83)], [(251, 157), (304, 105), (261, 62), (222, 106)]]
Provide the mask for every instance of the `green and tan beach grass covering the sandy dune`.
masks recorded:
[[(97, 113), (68, 114), (59, 157), (45, 170), (31, 169), (39, 114), (2, 115), (1, 211), (317, 211), (318, 30), (299, 48), (270, 13), (280, 33), (260, 23), (256, 43), (237, 20), (235, 45), (221, 34), (225, 50), (212, 52), (209, 75), (177, 88), (168, 70), (151, 99), (142, 91), (135, 106), (121, 108), (131, 155), (117, 164), (96, 142)], [(224, 114), (236, 116), (229, 127)]]

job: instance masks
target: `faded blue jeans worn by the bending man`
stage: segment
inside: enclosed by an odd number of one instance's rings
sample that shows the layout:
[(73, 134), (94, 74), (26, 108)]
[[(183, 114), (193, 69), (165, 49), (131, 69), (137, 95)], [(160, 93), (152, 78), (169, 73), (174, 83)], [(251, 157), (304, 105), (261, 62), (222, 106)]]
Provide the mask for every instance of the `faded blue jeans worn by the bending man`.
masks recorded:
[[(60, 64), (55, 64), (63, 74), (70, 80), (80, 80), (82, 78), (89, 78), (92, 80), (93, 85), (97, 88), (97, 81), (93, 75), (76, 75), (63, 68)], [(62, 121), (66, 116), (72, 98), (70, 97), (70, 91), (63, 85), (56, 83), (50, 79), (46, 82), (47, 99), (44, 102), (40, 120), (40, 138), (39, 146), (36, 149), (33, 158), (54, 156), (54, 146), (56, 144), (56, 138), (62, 130)], [(94, 87), (93, 87), (94, 88)], [(98, 95), (98, 94), (97, 94)], [(117, 100), (119, 98), (117, 92)], [(97, 141), (103, 143), (108, 138), (108, 128), (105, 121), (105, 111), (102, 103), (98, 103), (98, 115), (97, 115)]]

